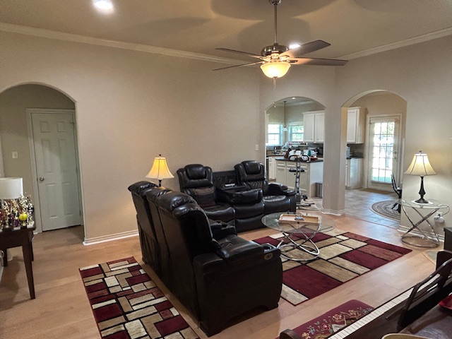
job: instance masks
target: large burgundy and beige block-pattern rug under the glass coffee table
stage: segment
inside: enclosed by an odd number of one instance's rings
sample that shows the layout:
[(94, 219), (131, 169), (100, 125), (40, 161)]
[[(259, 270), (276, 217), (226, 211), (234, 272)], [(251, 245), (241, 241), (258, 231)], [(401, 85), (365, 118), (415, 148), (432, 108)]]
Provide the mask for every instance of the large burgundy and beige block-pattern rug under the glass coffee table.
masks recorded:
[[(292, 237), (297, 242), (302, 241), (300, 237)], [(283, 237), (279, 233), (254, 241), (277, 246), (281, 239)], [(319, 232), (312, 240), (320, 249), (318, 258), (299, 262), (281, 256), (284, 270), (281, 297), (294, 305), (317, 297), (411, 252), (404, 247), (337, 229)], [(311, 258), (299, 249), (283, 247), (282, 251), (292, 258)]]

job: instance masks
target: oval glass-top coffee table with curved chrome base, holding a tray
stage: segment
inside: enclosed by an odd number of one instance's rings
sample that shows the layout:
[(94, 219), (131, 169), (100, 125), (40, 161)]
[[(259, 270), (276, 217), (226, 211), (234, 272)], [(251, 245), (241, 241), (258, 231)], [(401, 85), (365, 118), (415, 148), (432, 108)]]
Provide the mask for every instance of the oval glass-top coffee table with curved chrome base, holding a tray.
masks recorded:
[[(281, 215), (293, 215), (294, 218), (293, 220), (285, 218), (286, 220), (282, 221), (280, 220)], [(295, 220), (295, 217), (301, 218)], [(318, 222), (313, 222), (313, 220), (318, 220)], [(272, 213), (263, 216), (262, 223), (283, 234), (277, 247), (281, 249), (281, 256), (294, 261), (311, 261), (317, 258), (320, 250), (312, 238), (319, 232), (328, 232), (335, 228), (333, 220), (314, 213)]]

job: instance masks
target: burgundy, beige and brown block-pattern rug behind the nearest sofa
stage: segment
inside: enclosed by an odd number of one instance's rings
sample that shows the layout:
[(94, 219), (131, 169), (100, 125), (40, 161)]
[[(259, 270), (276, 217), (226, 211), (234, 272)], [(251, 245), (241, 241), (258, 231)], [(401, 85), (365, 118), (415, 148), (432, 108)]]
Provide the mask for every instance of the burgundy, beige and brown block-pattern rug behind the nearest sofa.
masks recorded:
[(135, 258), (83, 267), (80, 274), (102, 338), (198, 338)]

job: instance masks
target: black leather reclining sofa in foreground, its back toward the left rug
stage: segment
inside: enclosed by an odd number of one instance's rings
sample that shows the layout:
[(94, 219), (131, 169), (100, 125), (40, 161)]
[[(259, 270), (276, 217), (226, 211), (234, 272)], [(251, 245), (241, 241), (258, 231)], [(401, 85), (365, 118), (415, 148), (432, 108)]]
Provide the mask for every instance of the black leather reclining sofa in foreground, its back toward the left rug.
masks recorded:
[(278, 307), (280, 250), (237, 236), (209, 220), (191, 196), (150, 182), (129, 186), (136, 206), (143, 261), (214, 335), (251, 309)]

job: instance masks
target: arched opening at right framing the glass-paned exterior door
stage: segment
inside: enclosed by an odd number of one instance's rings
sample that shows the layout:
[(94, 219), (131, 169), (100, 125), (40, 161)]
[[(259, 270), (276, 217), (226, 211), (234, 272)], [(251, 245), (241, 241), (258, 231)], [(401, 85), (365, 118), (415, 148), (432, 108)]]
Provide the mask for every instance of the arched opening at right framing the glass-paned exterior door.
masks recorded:
[[(347, 147), (350, 149), (351, 158), (347, 160), (346, 175), (349, 177), (345, 182), (350, 183), (350, 177), (359, 179), (356, 181), (358, 184), (355, 182), (355, 186), (346, 184), (345, 213), (364, 220), (375, 221), (372, 218), (376, 218), (376, 215), (369, 212), (369, 206), (366, 203), (360, 205), (347, 203), (347, 196), (353, 196), (351, 191), (359, 189), (360, 200), (363, 200), (362, 194), (369, 194), (369, 196), (375, 192), (386, 194), (386, 196), (369, 197), (369, 203), (374, 202), (375, 198), (393, 199), (393, 196), (387, 195), (394, 193), (391, 174), (396, 177), (399, 186), (401, 186), (403, 178), (407, 102), (395, 93), (374, 90), (352, 97), (345, 103), (343, 110), (348, 113), (348, 129), (350, 126), (362, 129), (359, 133), (362, 133), (363, 136), (359, 141), (350, 141), (348, 136), (350, 131), (347, 133)], [(350, 114), (354, 110), (359, 112), (358, 117)], [(354, 166), (352, 166), (353, 163)], [(358, 169), (359, 173), (351, 172), (350, 168), (355, 171)], [(358, 206), (363, 206), (362, 213), (357, 210)]]

